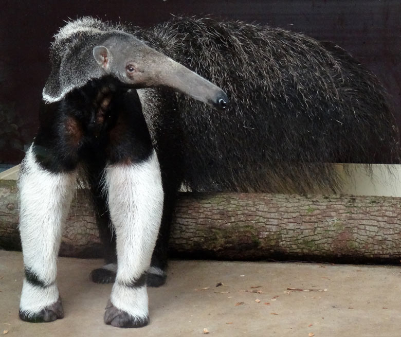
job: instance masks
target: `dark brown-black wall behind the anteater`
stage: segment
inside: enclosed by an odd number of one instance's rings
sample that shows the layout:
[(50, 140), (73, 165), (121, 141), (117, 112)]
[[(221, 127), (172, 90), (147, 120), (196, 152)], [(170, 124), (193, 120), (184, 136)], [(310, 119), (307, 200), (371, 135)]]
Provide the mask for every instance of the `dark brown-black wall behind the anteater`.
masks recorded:
[(210, 15), (269, 24), (333, 41), (374, 72), (391, 95), (401, 129), (399, 0), (2, 0), (0, 19), (0, 164), (18, 163), (38, 128), (52, 36), (82, 15), (138, 26), (171, 14)]

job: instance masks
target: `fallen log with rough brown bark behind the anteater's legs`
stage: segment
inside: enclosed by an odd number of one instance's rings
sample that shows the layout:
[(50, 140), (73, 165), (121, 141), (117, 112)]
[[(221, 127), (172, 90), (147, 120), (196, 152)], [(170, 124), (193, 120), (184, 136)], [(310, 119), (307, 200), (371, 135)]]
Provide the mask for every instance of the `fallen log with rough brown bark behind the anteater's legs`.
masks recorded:
[[(173, 256), (218, 259), (399, 261), (401, 198), (180, 193)], [(15, 181), (0, 180), (0, 247), (20, 249)], [(98, 257), (88, 191), (77, 189), (60, 255)]]

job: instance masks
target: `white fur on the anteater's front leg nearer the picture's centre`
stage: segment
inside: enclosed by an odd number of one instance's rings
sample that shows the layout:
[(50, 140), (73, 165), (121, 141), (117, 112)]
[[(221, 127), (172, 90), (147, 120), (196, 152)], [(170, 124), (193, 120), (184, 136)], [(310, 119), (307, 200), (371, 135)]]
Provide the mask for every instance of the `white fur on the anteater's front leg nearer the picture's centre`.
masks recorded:
[(134, 317), (148, 315), (145, 286), (126, 287), (150, 267), (163, 209), (163, 190), (156, 152), (145, 162), (106, 168), (110, 215), (117, 239), (117, 275), (112, 304)]

